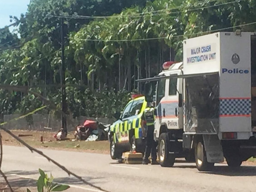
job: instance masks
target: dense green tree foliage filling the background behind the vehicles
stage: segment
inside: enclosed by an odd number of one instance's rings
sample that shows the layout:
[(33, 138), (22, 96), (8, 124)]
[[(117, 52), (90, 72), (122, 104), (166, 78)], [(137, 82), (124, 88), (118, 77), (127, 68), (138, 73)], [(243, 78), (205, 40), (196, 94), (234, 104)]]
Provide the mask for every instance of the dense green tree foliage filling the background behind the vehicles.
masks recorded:
[[(183, 39), (233, 31), (255, 22), (255, 10), (251, 0), (31, 0), (26, 15), (14, 17), (20, 39), (0, 29), (1, 84), (31, 86), (60, 109), (56, 16), (64, 16), (69, 113), (111, 117), (138, 90), (135, 79), (156, 75), (164, 61), (182, 60)], [(255, 25), (239, 28), (254, 31)], [(0, 98), (0, 114), (42, 105), (27, 93), (0, 90)]]

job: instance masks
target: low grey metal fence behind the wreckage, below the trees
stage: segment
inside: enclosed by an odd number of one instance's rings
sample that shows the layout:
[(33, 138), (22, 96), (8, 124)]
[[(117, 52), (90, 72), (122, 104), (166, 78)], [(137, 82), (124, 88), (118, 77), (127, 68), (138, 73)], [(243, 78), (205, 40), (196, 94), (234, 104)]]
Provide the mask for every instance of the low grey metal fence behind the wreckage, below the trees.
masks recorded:
[[(4, 115), (4, 122), (9, 122), (12, 119), (18, 118), (21, 115), (13, 114), (13, 115)], [(110, 124), (113, 123), (114, 119), (108, 118), (91, 118), (91, 117), (83, 117), (72, 118), (72, 116), (67, 116), (67, 128), (68, 131), (75, 130), (75, 127), (78, 124), (83, 124), (86, 119), (99, 121), (101, 123)], [(35, 131), (43, 131), (46, 128), (51, 128), (50, 130), (56, 131), (61, 128), (61, 120), (55, 118), (53, 115), (47, 114), (33, 114), (28, 118), (22, 118), (15, 121), (10, 121), (9, 123), (4, 125), (4, 128), (9, 130), (35, 130)], [(48, 129), (49, 130), (49, 129)]]

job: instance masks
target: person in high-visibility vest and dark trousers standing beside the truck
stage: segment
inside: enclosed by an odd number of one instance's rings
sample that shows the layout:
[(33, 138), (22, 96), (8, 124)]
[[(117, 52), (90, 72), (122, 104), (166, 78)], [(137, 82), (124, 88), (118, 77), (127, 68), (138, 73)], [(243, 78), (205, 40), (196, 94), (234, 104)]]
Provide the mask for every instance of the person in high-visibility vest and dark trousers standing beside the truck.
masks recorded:
[(147, 107), (141, 116), (141, 128), (143, 140), (146, 142), (146, 149), (142, 164), (150, 163), (148, 157), (151, 153), (151, 164), (158, 164), (157, 162), (157, 142), (154, 141), (154, 107)]

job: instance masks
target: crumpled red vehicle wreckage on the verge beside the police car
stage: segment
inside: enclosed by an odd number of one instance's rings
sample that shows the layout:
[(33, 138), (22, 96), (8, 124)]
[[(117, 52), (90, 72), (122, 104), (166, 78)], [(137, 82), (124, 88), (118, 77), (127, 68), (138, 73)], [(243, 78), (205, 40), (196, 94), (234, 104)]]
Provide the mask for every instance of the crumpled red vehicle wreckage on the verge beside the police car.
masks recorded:
[(109, 125), (104, 125), (93, 120), (85, 120), (83, 125), (75, 128), (75, 139), (85, 141), (104, 141), (108, 140)]

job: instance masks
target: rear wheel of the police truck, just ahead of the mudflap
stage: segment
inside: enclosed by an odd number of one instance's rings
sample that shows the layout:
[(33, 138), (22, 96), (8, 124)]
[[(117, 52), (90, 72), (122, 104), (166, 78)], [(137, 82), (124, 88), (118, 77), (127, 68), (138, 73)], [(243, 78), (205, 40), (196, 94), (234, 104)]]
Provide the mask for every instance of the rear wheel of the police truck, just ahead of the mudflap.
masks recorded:
[(197, 142), (195, 148), (195, 162), (198, 171), (211, 171), (214, 167), (214, 163), (209, 163), (207, 161), (203, 141)]

